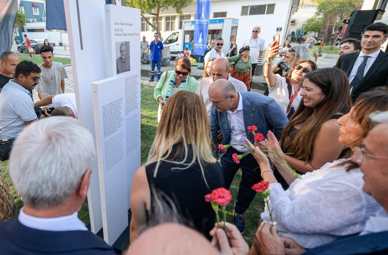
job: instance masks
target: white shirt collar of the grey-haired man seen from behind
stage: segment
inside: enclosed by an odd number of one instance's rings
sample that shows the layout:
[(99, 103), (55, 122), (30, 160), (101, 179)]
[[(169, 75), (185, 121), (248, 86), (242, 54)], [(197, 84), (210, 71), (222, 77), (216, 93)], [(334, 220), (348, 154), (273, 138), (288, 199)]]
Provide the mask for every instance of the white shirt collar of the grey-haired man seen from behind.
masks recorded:
[(17, 219), (26, 227), (45, 231), (88, 230), (85, 224), (78, 219), (78, 212), (56, 218), (38, 218), (26, 214), (23, 208), (21, 208)]

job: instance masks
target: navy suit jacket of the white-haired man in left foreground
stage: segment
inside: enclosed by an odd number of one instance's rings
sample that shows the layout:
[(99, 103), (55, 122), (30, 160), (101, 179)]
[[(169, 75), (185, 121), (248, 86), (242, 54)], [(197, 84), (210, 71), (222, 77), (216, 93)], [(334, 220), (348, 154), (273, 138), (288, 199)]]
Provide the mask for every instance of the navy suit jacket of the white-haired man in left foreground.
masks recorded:
[(18, 219), (0, 222), (0, 254), (110, 255), (121, 254), (90, 231), (44, 231)]

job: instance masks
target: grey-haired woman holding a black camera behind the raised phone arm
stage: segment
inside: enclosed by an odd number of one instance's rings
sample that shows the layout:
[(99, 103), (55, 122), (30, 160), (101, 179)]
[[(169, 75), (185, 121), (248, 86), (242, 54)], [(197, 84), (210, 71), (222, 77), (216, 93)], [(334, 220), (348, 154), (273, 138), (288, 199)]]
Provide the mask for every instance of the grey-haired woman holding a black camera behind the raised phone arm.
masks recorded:
[(307, 48), (303, 45), (292, 46), (285, 53), (283, 61), (272, 70), (275, 74), (279, 74), (282, 77), (291, 71), (291, 67), (296, 62), (300, 60), (313, 60)]

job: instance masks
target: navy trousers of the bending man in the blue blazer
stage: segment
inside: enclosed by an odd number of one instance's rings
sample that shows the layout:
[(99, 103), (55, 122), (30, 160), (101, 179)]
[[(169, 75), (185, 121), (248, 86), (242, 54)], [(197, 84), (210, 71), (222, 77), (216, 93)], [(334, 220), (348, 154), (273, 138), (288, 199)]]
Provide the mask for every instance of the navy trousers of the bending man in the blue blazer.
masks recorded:
[(241, 183), (234, 211), (237, 214), (243, 214), (252, 203), (253, 198), (255, 198), (256, 191), (252, 190), (253, 184), (261, 181), (262, 177), (260, 176), (259, 165), (252, 154), (246, 155), (240, 160), (240, 164), (236, 164), (232, 159), (233, 153), (237, 153), (237, 155), (242, 154), (242, 152), (238, 152), (233, 147), (230, 147), (221, 158), (221, 166), (227, 189), (232, 184), (239, 168), (242, 170)]

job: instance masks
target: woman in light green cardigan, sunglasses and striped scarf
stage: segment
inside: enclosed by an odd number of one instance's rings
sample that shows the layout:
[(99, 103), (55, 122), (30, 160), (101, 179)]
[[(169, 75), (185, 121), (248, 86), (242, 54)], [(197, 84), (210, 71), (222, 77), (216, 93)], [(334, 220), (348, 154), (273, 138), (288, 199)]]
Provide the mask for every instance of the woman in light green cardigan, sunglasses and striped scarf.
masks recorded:
[(175, 72), (163, 72), (154, 90), (155, 99), (159, 102), (158, 123), (162, 114), (163, 105), (168, 98), (178, 90), (197, 91), (198, 81), (190, 76), (191, 62), (186, 58), (179, 58), (175, 63)]

